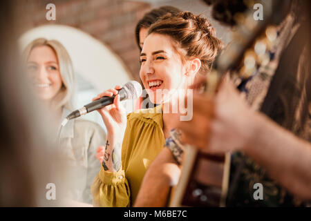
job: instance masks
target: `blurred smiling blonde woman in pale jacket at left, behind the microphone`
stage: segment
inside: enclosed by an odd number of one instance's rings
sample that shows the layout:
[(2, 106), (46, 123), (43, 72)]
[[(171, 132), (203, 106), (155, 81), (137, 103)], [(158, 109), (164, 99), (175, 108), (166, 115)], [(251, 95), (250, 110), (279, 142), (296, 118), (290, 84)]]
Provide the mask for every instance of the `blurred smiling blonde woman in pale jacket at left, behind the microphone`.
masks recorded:
[[(55, 114), (57, 125), (72, 110), (75, 87), (72, 61), (66, 48), (55, 40), (35, 39), (23, 52), (28, 76), (39, 96)], [(94, 122), (74, 119), (59, 126), (59, 146), (68, 162), (68, 198), (92, 203), (91, 184), (100, 166), (97, 146), (104, 144), (104, 130)]]

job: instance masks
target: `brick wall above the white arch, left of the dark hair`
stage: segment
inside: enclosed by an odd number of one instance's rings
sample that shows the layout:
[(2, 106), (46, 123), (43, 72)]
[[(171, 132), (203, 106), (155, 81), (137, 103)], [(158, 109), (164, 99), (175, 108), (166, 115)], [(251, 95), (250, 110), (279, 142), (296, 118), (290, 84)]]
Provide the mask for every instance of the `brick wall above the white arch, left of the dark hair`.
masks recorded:
[[(21, 15), (25, 30), (46, 24), (60, 24), (78, 28), (109, 46), (121, 57), (139, 79), (139, 50), (135, 42), (135, 26), (149, 3), (124, 0), (24, 0)], [(56, 21), (46, 20), (46, 5), (56, 6)]]

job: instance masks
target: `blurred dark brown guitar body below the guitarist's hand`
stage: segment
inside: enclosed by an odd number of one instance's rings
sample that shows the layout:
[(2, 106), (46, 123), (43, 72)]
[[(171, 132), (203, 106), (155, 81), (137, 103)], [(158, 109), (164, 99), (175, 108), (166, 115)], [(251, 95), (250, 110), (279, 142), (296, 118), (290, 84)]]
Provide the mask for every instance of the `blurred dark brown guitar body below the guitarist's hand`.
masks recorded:
[(231, 155), (210, 155), (190, 147), (186, 152), (187, 165), (172, 190), (169, 206), (225, 206)]

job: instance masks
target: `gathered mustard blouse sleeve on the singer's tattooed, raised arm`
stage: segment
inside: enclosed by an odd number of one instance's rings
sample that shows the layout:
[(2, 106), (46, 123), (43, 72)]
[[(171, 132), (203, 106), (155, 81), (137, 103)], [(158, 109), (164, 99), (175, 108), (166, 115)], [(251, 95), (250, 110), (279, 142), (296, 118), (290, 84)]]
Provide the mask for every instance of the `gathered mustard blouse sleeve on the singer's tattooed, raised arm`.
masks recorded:
[(129, 182), (126, 180), (124, 173), (124, 143), (129, 140), (131, 128), (129, 126), (129, 117), (127, 117), (126, 130), (122, 142), (122, 168), (112, 173), (105, 171), (101, 166), (100, 173), (95, 177), (91, 186), (93, 195), (93, 206), (102, 207), (126, 207), (131, 204), (131, 191)]

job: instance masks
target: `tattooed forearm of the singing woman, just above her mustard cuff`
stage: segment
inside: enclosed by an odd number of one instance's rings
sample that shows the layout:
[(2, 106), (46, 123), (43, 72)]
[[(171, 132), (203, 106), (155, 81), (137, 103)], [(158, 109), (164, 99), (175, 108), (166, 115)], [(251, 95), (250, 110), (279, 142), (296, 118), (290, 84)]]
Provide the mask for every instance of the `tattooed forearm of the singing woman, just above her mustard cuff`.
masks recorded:
[(107, 135), (104, 159), (102, 161), (102, 166), (105, 171), (117, 172), (121, 166), (121, 148), (122, 142), (120, 142), (120, 137), (115, 137), (113, 135)]

